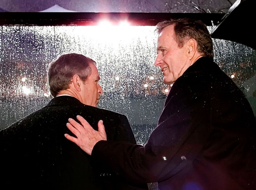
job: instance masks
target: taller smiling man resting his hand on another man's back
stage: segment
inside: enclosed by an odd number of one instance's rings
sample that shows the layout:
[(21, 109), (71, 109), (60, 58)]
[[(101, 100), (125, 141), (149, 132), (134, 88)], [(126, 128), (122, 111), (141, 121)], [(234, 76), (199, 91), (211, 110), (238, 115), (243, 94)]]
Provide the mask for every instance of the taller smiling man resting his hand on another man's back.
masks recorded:
[[(160, 190), (256, 189), (256, 124), (242, 91), (213, 62), (213, 43), (200, 21), (157, 25), (155, 66), (173, 84), (158, 126), (145, 146), (106, 141), (81, 117), (67, 127), (98, 165)], [(93, 134), (93, 135), (91, 135)]]

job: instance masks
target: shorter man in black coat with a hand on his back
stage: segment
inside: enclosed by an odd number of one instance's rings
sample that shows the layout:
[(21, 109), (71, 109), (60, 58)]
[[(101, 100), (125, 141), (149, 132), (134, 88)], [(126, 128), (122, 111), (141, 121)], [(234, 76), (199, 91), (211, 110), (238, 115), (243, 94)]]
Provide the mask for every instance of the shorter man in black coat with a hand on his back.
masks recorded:
[(50, 64), (48, 80), (54, 98), (0, 131), (1, 189), (140, 189), (92, 168), (94, 160), (63, 136), (67, 119), (79, 114), (95, 129), (104, 120), (108, 140), (136, 143), (126, 116), (96, 108), (102, 88), (95, 61), (61, 55)]

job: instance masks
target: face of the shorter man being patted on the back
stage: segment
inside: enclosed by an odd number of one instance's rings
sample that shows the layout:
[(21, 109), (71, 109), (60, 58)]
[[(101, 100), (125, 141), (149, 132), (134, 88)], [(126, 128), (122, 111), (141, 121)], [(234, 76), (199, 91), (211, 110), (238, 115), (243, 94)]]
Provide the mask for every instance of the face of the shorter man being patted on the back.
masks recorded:
[(81, 91), (83, 96), (82, 103), (96, 107), (103, 90), (99, 85), (100, 75), (98, 69), (94, 64), (90, 64), (89, 66), (91, 67), (91, 75), (86, 79), (85, 84), (83, 84)]

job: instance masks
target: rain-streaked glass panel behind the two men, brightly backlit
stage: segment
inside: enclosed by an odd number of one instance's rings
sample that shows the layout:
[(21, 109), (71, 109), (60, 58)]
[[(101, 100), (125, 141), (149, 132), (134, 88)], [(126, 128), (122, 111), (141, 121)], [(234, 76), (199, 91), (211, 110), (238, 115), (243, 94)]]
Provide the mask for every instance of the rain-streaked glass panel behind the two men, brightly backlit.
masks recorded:
[[(170, 85), (154, 66), (154, 26), (1, 26), (0, 129), (47, 104), (48, 64), (63, 53), (82, 53), (98, 63), (104, 93), (98, 107), (128, 117), (137, 143), (156, 127)], [(212, 30), (212, 28), (209, 28)], [(213, 39), (215, 61), (230, 76), (256, 114), (256, 53)]]

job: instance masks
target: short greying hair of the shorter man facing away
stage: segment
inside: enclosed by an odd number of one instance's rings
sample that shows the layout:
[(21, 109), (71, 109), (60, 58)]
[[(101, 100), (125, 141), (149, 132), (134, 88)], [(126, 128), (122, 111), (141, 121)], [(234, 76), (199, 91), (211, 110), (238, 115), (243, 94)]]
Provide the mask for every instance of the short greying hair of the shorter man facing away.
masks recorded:
[(85, 81), (91, 75), (90, 63), (96, 65), (94, 60), (78, 53), (63, 54), (52, 61), (48, 69), (51, 95), (55, 97), (59, 91), (68, 89), (75, 74)]

